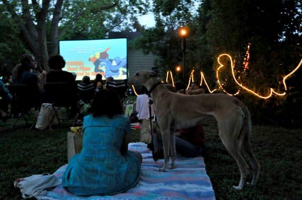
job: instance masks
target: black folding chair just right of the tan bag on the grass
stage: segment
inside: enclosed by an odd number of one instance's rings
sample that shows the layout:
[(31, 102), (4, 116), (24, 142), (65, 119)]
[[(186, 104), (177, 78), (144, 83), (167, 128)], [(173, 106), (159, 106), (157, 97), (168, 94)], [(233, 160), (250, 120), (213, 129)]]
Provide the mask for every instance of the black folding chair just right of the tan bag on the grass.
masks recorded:
[(76, 109), (77, 114), (73, 119), (73, 123), (72, 123), (73, 126), (79, 114), (78, 106), (77, 106), (78, 103), (77, 97), (75, 95), (75, 86), (70, 85), (66, 82), (46, 82), (44, 84), (44, 89), (45, 89), (46, 102), (52, 105), (52, 109), (54, 111), (54, 115), (50, 121), (49, 129), (51, 129), (51, 124), (55, 116), (57, 117), (59, 124), (61, 124), (60, 120), (68, 119), (68, 118), (59, 118), (57, 112), (61, 107), (66, 108), (66, 112), (69, 107), (71, 107), (73, 110)]

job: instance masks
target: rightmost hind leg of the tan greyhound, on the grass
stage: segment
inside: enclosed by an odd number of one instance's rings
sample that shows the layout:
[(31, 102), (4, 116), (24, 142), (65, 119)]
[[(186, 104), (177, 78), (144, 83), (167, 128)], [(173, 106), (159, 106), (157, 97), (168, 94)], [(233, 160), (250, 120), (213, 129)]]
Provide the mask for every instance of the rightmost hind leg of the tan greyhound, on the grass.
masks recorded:
[(249, 135), (246, 135), (244, 138), (244, 150), (248, 155), (248, 158), (251, 162), (251, 166), (253, 169), (253, 179), (252, 179), (252, 185), (256, 185), (257, 184), (257, 180), (259, 178), (259, 173), (260, 173), (260, 164), (258, 162), (258, 160), (255, 158), (255, 155), (253, 153), (252, 147), (251, 147), (251, 143), (250, 143), (250, 139), (249, 139)]

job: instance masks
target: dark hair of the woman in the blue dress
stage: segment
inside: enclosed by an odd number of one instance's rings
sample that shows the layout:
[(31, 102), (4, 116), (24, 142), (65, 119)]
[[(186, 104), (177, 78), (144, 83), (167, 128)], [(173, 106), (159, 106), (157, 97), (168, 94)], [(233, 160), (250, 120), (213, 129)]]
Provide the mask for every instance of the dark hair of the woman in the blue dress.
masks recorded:
[(91, 113), (93, 117), (107, 115), (109, 118), (113, 118), (114, 115), (121, 115), (123, 107), (120, 98), (112, 90), (99, 90), (93, 98)]

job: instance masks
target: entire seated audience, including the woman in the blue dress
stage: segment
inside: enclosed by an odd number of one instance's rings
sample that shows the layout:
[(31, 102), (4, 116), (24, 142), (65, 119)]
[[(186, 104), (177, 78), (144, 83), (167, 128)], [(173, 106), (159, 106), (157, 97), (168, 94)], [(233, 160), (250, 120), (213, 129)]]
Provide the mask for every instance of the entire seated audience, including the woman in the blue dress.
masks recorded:
[[(97, 74), (94, 81), (89, 76), (84, 76), (77, 82), (76, 73), (62, 70), (65, 60), (60, 55), (50, 57), (48, 66), (50, 71), (46, 73), (41, 66), (37, 66), (34, 56), (24, 54), (12, 71), (12, 80), (4, 82), (0, 79), (0, 119), (6, 121), (9, 114), (18, 116), (20, 112), (18, 108), (14, 108), (15, 96), (10, 91), (10, 85), (25, 85), (33, 108), (39, 112), (41, 104), (51, 98), (47, 87), (53, 83), (67, 84), (70, 86), (69, 92), (78, 102), (67, 111), (71, 115), (82, 111), (84, 138), (81, 153), (71, 158), (63, 174), (63, 186), (77, 195), (115, 194), (135, 186), (140, 175), (142, 157), (138, 152), (128, 151), (130, 120), (122, 115), (121, 103), (127, 84), (107, 77), (103, 85), (101, 74)], [(189, 90), (184, 90), (180, 82), (177, 82), (176, 87), (169, 84), (166, 86), (172, 92), (203, 93), (196, 84), (192, 84)], [(156, 111), (152, 106), (150, 118), (147, 93), (147, 89), (143, 88), (136, 99), (135, 109), (136, 121), (142, 123), (140, 140), (151, 144), (153, 141), (148, 126), (149, 121), (156, 116)], [(84, 112), (83, 108), (87, 105), (90, 105), (87, 107), (90, 110)], [(204, 153), (202, 125), (176, 130), (176, 136), (176, 150), (182, 156), (196, 157)]]

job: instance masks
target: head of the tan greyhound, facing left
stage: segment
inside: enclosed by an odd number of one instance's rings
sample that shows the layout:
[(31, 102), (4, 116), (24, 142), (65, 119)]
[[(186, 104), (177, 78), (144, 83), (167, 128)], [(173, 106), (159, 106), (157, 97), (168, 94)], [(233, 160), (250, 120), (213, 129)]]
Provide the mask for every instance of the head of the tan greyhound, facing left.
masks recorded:
[(154, 82), (158, 82), (157, 73), (150, 70), (140, 70), (137, 71), (134, 76), (128, 78), (126, 82), (129, 84), (141, 84), (144, 86), (147, 84), (154, 84)]

